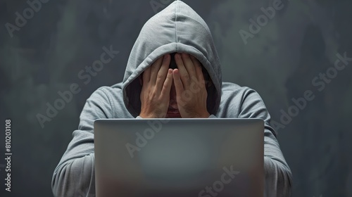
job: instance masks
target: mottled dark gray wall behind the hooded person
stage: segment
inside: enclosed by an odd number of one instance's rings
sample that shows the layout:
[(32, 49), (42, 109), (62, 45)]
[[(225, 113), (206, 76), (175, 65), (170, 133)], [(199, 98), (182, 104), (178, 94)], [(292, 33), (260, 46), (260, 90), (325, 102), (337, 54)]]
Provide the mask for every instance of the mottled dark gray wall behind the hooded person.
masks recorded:
[[(249, 32), (249, 19), (256, 20), (272, 0), (185, 2), (213, 33), (223, 80), (256, 89), (272, 120), (280, 122), (280, 110), (294, 104), (291, 98), (313, 91), (315, 99), (278, 130), (294, 175), (294, 196), (352, 196), (352, 62), (322, 91), (312, 84), (334, 66), (337, 53), (352, 57), (352, 2), (284, 0), (284, 8), (247, 44), (239, 30)], [(134, 41), (155, 14), (151, 1), (51, 0), (11, 37), (6, 23), (15, 25), (15, 12), (22, 15), (28, 7), (25, 0), (0, 1), (1, 158), (6, 118), (13, 129), (12, 191), (5, 191), (1, 159), (1, 196), (52, 196), (54, 168), (84, 102), (98, 87), (122, 80)], [(111, 45), (118, 56), (84, 84), (77, 73)], [(36, 115), (44, 115), (46, 103), (54, 103), (57, 92), (73, 83), (82, 91), (42, 128)]]

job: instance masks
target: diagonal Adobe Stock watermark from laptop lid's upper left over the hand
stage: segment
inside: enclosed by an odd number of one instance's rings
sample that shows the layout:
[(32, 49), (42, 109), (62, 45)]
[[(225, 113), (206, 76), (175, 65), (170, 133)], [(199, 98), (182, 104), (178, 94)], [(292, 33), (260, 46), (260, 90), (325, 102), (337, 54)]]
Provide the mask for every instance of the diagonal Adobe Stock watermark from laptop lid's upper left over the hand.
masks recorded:
[[(206, 81), (205, 81), (206, 82)], [(177, 105), (180, 106), (185, 106), (187, 101), (190, 101), (191, 98), (194, 96), (194, 94), (198, 94), (201, 91), (200, 86), (204, 86), (205, 84), (199, 82), (199, 80), (196, 77), (191, 77), (191, 84), (189, 86), (189, 89), (184, 90), (182, 95), (180, 96), (181, 98), (177, 100)], [(159, 115), (159, 117), (164, 118), (165, 114)], [(149, 120), (147, 123), (149, 125), (149, 128), (144, 129), (144, 131), (141, 133), (136, 132), (136, 140), (135, 140), (135, 145), (127, 143), (125, 146), (127, 148), (128, 153), (130, 153), (131, 158), (134, 158), (134, 152), (139, 152), (142, 150), (146, 144), (148, 144), (148, 141), (153, 139), (154, 136), (161, 131), (163, 124), (166, 124), (170, 122), (170, 119), (165, 118), (165, 120)]]

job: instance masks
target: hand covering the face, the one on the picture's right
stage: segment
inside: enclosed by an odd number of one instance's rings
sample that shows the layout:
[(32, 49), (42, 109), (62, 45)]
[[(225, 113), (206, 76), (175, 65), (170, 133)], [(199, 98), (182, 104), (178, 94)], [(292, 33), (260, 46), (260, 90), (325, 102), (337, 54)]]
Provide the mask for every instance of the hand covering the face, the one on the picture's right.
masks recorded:
[(173, 80), (177, 95), (177, 107), (183, 118), (209, 117), (206, 108), (206, 91), (201, 63), (187, 53), (176, 53)]

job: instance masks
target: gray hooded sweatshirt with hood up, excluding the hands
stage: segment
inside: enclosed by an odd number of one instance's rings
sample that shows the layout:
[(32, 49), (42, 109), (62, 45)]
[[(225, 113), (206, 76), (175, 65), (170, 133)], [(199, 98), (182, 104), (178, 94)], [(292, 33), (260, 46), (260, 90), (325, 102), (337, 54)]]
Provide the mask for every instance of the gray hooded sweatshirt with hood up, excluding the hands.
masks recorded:
[(54, 171), (54, 196), (94, 196), (94, 120), (138, 117), (142, 87), (137, 77), (158, 57), (173, 52), (195, 56), (208, 71), (214, 84), (207, 89), (210, 117), (257, 117), (265, 121), (265, 196), (291, 196), (291, 170), (270, 127), (262, 98), (249, 87), (222, 82), (220, 60), (208, 25), (182, 1), (174, 1), (146, 22), (130, 53), (123, 81), (101, 87), (87, 99), (80, 125)]

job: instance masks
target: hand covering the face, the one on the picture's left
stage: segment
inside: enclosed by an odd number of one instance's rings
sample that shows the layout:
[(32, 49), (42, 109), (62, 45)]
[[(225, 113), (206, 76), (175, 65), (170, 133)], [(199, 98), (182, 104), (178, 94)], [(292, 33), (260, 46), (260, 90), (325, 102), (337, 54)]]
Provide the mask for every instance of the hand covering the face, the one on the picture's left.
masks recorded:
[(165, 54), (144, 70), (140, 117), (164, 118), (168, 112), (172, 85), (170, 58), (170, 54)]

